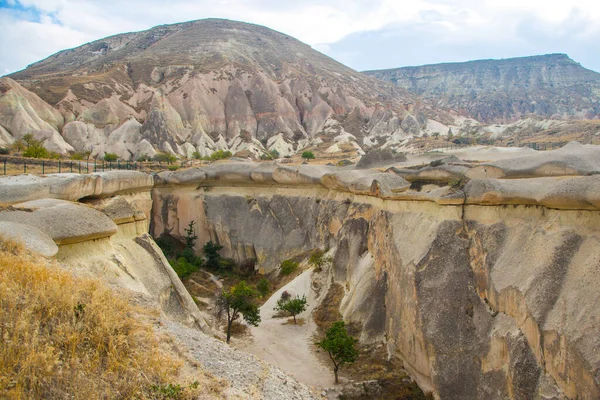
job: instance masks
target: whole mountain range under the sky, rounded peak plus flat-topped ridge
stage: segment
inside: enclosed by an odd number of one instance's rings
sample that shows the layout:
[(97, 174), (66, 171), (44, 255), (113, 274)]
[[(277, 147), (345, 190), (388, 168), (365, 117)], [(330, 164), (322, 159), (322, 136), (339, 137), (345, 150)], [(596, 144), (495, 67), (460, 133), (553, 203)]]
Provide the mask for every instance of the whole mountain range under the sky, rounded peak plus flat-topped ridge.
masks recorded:
[(122, 159), (352, 157), (423, 135), (598, 118), (599, 88), (600, 74), (564, 55), (359, 73), (283, 33), (208, 19), (111, 36), (0, 78), (0, 146), (32, 133), (62, 154)]

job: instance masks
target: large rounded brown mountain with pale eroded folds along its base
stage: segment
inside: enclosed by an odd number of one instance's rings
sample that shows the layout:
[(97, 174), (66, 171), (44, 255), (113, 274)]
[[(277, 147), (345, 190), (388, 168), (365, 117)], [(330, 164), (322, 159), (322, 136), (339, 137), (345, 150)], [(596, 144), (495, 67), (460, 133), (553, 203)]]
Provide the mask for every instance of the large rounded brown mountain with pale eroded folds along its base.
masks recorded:
[(33, 132), (62, 153), (124, 159), (310, 146), (355, 154), (420, 135), (429, 118), (454, 123), (288, 35), (219, 19), (111, 36), (0, 81), (0, 145)]

